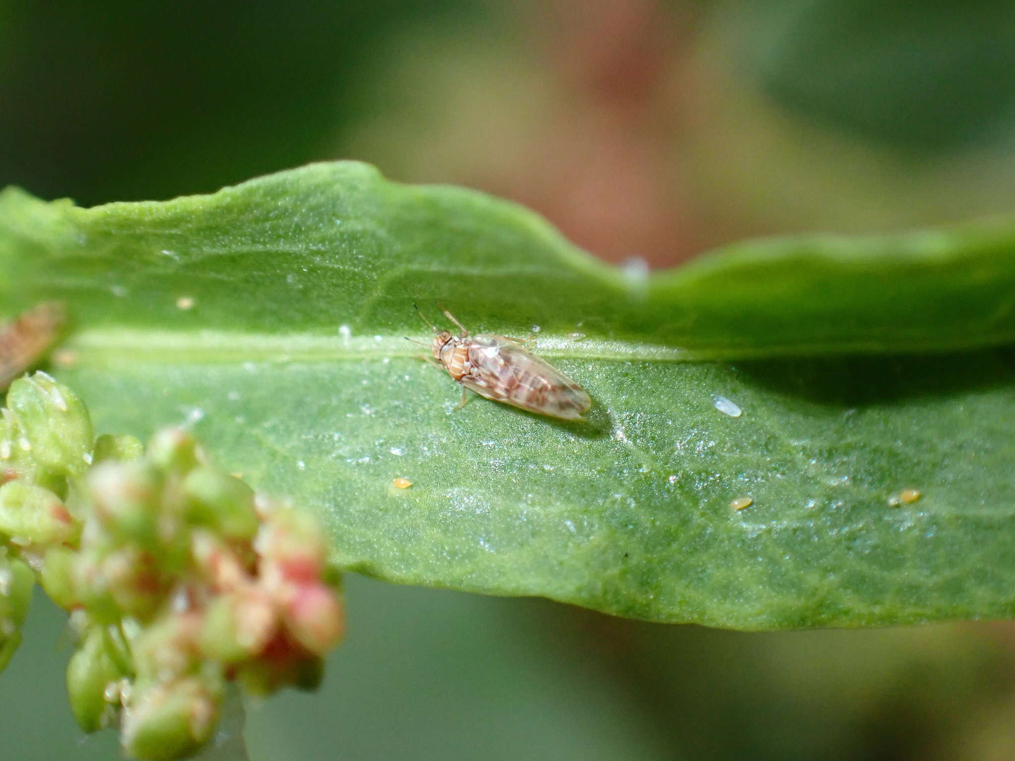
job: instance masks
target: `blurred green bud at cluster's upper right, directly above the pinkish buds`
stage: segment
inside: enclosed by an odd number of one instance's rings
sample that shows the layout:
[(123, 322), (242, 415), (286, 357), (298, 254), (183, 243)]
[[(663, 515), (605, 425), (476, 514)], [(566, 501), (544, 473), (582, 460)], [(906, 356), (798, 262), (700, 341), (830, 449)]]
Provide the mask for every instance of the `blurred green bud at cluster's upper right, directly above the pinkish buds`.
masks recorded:
[(226, 540), (251, 540), (260, 520), (254, 509), (254, 490), (239, 478), (216, 468), (195, 468), (184, 479), (187, 518)]

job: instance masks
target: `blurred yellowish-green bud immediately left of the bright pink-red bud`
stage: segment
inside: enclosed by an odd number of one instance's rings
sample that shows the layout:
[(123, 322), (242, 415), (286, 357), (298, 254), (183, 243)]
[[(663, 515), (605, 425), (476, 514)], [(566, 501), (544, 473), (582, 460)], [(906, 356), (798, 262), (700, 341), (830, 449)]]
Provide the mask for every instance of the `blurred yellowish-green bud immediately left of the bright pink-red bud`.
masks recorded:
[(201, 627), (201, 650), (214, 661), (235, 664), (261, 652), (277, 630), (271, 599), (249, 585), (212, 599)]

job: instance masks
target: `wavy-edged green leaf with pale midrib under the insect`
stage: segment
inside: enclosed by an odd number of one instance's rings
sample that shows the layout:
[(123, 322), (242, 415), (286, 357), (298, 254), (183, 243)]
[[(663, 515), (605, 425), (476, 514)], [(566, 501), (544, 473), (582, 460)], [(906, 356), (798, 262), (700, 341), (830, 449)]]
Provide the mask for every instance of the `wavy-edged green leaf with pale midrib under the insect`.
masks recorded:
[[(56, 371), (99, 430), (193, 427), (322, 514), (345, 568), (753, 629), (1015, 613), (1012, 224), (647, 276), (511, 204), (336, 163), (93, 209), (9, 190), (0, 267), (4, 313), (68, 304)], [(403, 340), (428, 339), (413, 302), (539, 326), (589, 421), (455, 410)]]

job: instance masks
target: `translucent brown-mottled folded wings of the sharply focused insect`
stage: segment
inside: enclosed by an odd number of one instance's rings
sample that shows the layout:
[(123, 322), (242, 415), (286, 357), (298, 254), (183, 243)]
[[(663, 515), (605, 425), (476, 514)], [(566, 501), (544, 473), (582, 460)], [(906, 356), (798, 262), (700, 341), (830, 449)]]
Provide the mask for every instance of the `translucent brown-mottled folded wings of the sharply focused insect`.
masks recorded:
[(495, 402), (564, 420), (581, 420), (592, 406), (585, 389), (501, 336), (474, 337), (469, 361), (472, 370), (461, 383)]

